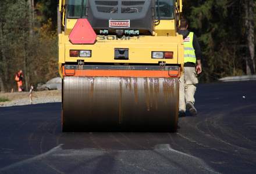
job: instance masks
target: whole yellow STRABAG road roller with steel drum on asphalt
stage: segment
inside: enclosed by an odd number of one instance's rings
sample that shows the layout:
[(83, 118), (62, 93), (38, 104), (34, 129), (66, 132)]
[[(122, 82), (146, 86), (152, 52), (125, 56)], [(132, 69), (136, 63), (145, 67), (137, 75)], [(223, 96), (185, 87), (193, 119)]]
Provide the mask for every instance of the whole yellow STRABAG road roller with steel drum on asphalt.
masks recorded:
[(61, 0), (62, 131), (175, 132), (182, 0)]

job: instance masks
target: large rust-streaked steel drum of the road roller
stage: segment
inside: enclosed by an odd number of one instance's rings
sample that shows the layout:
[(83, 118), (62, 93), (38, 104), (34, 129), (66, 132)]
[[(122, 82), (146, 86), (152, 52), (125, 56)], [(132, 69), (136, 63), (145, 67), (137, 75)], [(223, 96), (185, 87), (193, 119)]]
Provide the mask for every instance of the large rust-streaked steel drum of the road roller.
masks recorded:
[(177, 78), (64, 77), (63, 131), (176, 131)]

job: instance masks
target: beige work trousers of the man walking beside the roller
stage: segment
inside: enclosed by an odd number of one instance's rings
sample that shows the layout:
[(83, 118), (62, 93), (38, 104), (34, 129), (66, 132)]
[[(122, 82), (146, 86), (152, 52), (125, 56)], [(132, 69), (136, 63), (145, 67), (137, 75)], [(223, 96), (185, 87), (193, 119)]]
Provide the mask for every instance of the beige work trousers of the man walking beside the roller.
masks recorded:
[(179, 79), (180, 102), (179, 110), (186, 111), (186, 103), (195, 103), (194, 94), (198, 84), (197, 74), (194, 67), (184, 67), (184, 74)]

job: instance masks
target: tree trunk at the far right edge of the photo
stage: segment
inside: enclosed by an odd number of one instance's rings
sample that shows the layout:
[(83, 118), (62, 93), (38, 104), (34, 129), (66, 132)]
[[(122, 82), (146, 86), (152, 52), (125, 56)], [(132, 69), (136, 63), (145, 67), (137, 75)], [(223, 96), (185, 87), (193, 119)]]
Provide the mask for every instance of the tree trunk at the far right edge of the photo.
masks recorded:
[(255, 6), (254, 0), (244, 1), (244, 10), (246, 13), (245, 26), (246, 26), (246, 35), (247, 35), (247, 45), (248, 45), (247, 66), (250, 67), (250, 71), (247, 71), (247, 75), (255, 74), (254, 6)]

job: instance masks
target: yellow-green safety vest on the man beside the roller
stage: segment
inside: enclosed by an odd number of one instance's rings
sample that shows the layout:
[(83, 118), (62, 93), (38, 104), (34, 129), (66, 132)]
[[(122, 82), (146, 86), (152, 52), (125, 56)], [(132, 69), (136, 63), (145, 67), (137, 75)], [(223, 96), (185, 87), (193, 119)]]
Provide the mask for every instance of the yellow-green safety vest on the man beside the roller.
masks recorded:
[(196, 63), (195, 50), (193, 47), (194, 32), (190, 32), (189, 35), (184, 39), (184, 63), (192, 62)]

